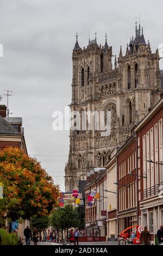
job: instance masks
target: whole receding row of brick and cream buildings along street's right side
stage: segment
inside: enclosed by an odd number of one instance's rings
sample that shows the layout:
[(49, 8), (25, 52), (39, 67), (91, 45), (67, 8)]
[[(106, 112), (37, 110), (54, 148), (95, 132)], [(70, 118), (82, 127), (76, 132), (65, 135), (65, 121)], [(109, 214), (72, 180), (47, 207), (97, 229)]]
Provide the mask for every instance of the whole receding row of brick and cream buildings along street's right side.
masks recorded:
[[(154, 241), (163, 223), (162, 122), (163, 97), (131, 127), (131, 136), (111, 152), (105, 168), (87, 173), (85, 224), (90, 236), (117, 240), (124, 229), (147, 225)], [(99, 193), (99, 199), (88, 206), (91, 191)]]

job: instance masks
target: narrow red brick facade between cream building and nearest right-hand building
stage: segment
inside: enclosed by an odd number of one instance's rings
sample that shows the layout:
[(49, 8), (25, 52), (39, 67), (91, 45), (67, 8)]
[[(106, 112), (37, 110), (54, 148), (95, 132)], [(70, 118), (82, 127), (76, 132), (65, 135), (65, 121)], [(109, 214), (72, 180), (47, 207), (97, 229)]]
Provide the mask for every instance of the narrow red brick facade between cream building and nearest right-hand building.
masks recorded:
[(137, 224), (136, 136), (117, 151), (117, 218), (118, 234)]

